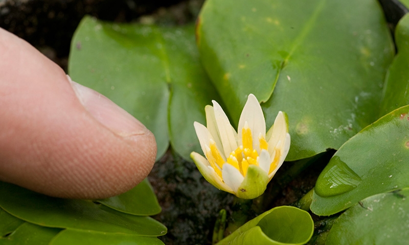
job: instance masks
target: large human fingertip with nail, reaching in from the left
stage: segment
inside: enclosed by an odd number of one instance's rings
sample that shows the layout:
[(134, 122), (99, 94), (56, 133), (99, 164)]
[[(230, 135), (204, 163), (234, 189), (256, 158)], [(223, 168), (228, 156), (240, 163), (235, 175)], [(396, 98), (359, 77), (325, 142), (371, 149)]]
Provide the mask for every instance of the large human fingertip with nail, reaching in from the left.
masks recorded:
[(141, 122), (0, 28), (0, 181), (53, 197), (107, 198), (141, 182), (155, 156)]

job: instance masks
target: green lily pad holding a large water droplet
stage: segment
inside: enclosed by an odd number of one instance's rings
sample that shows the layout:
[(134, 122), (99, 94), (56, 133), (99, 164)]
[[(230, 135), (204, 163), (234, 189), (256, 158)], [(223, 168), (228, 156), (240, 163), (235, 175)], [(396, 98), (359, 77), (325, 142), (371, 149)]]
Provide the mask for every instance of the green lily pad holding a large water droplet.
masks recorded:
[(371, 195), (409, 187), (409, 105), (348, 140), (318, 177), (311, 203), (331, 215)]

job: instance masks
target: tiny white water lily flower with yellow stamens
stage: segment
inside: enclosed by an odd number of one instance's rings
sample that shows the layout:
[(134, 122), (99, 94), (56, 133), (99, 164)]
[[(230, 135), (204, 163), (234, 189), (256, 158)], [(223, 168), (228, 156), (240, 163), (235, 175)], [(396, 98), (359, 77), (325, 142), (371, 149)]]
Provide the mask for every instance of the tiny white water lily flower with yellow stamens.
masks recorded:
[(206, 158), (190, 154), (200, 173), (216, 188), (239, 198), (259, 197), (290, 148), (286, 114), (280, 111), (266, 133), (263, 111), (250, 94), (236, 132), (217, 102), (205, 111), (207, 127), (196, 121), (194, 127)]

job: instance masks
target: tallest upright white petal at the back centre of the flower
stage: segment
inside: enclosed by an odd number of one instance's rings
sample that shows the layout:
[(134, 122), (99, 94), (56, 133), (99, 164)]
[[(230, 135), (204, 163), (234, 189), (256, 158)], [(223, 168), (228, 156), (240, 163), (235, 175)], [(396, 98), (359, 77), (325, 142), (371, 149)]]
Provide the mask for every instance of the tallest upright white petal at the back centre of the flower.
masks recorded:
[(265, 119), (263, 110), (256, 98), (252, 93), (248, 95), (247, 102), (244, 105), (239, 119), (239, 127), (237, 129), (238, 140), (241, 143), (242, 128), (247, 122), (248, 127), (252, 131), (253, 136), (253, 148), (260, 152), (259, 135), (265, 138)]

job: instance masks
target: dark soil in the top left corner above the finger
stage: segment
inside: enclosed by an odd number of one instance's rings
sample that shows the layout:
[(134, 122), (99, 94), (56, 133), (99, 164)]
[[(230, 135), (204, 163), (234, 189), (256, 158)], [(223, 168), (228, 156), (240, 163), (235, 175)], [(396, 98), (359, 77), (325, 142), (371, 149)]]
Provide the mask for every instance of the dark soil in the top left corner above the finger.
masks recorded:
[(0, 27), (25, 39), (67, 70), (74, 31), (85, 15), (115, 22), (183, 24), (194, 21), (202, 0), (0, 0)]

